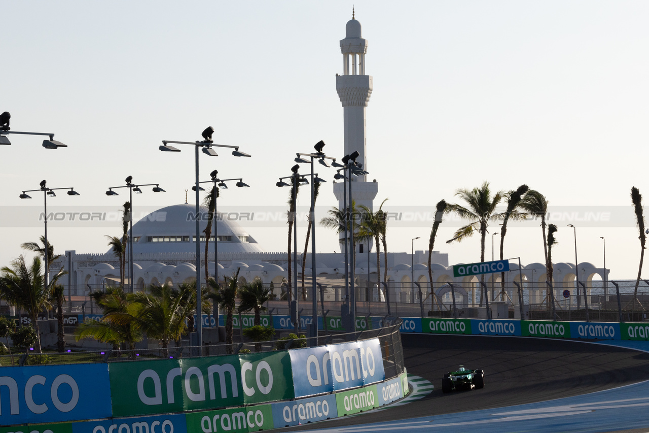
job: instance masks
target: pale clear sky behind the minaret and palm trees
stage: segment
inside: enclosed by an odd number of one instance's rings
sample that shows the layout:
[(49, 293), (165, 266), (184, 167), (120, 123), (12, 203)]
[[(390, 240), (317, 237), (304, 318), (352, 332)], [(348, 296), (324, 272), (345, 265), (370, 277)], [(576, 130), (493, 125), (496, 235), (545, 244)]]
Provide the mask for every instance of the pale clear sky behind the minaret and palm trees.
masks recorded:
[[(18, 198), (42, 179), (82, 194), (48, 200), (61, 209), (118, 209), (125, 190), (119, 197), (104, 192), (129, 175), (167, 191), (138, 195), (136, 215), (138, 206), (183, 203), (194, 178), (193, 148), (162, 153), (158, 146), (164, 139), (199, 140), (208, 125), (215, 142), (252, 154), (201, 154), (201, 179), (217, 168), (219, 176), (251, 185), (224, 191), (219, 210), (282, 209), (288, 190), (275, 187), (277, 177), (290, 173), (295, 152), (308, 152), (319, 140), (328, 155), (343, 156), (335, 75), (342, 73), (339, 40), (352, 2), (0, 5), (0, 112), (11, 112), (14, 131), (52, 132), (69, 146), (45, 150), (38, 137), (11, 135), (13, 144), (0, 147), (0, 265), (42, 234), (38, 222), (14, 223), (28, 207), (42, 209), (42, 194)], [(430, 210), (442, 198), (454, 202), (458, 188), (485, 180), (495, 190), (526, 183), (561, 215), (590, 215), (588, 222), (557, 222), (555, 261), (574, 262), (573, 232), (566, 227), (572, 223), (580, 262), (602, 267), (600, 237), (606, 237), (611, 278), (635, 278), (640, 245), (630, 189), (649, 194), (649, 3), (353, 5), (369, 41), (366, 70), (374, 77), (367, 169), (379, 183), (378, 203), (389, 198), (384, 209)], [(332, 168), (319, 173), (333, 180)], [(331, 191), (331, 183), (324, 185), (321, 209), (337, 205)], [(607, 221), (607, 212), (622, 222)], [(494, 224), (490, 233), (499, 231)], [(445, 244), (457, 228), (458, 222), (443, 223), (435, 250), (447, 252), (450, 264), (479, 261), (477, 236)], [(285, 224), (249, 231), (267, 251), (286, 249)], [(116, 222), (51, 222), (48, 231), (60, 253), (105, 252), (104, 235), (119, 233)], [(298, 233), (304, 236), (304, 227)], [(415, 250), (425, 250), (429, 233), (429, 222), (391, 224), (389, 250), (410, 252), (414, 237), (422, 238)], [(497, 242), (498, 236), (496, 255)], [(337, 249), (336, 235), (319, 229), (317, 250)], [(510, 226), (505, 249), (524, 264), (543, 261), (537, 222)]]

